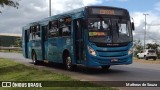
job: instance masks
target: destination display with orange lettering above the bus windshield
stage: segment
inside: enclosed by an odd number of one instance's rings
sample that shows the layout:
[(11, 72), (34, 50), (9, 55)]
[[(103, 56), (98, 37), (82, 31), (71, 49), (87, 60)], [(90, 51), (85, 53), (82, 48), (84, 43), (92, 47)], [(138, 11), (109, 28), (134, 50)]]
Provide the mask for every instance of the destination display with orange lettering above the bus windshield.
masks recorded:
[(125, 15), (123, 10), (117, 9), (103, 9), (103, 8), (91, 8), (90, 14), (101, 14), (101, 15)]

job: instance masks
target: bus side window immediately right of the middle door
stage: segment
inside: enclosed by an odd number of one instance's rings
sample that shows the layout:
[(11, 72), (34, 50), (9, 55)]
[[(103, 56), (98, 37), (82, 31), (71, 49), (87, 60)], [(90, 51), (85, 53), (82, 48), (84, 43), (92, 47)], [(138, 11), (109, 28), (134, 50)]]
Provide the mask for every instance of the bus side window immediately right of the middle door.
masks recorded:
[(48, 36), (51, 37), (57, 37), (58, 36), (58, 21), (50, 21), (49, 22), (49, 30), (48, 30)]

